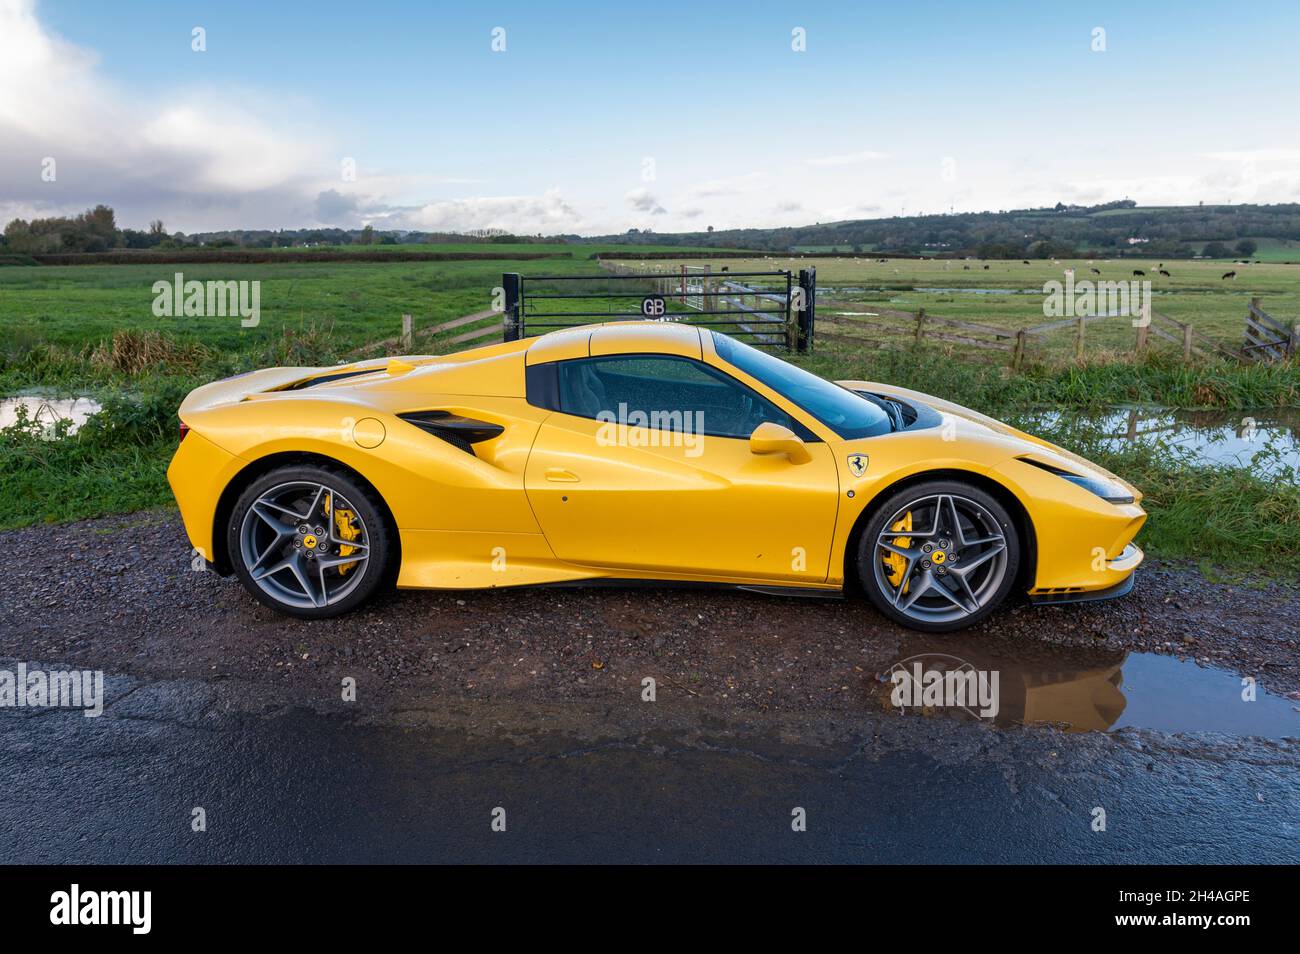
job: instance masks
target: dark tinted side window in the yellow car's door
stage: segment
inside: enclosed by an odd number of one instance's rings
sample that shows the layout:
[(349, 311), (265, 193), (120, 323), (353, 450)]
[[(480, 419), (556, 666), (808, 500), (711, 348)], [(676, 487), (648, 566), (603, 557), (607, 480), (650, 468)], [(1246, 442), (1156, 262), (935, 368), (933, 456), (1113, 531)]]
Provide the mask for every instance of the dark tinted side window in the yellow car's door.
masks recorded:
[(689, 357), (611, 355), (562, 361), (559, 409), (656, 430), (749, 438), (764, 421), (815, 437), (728, 374)]

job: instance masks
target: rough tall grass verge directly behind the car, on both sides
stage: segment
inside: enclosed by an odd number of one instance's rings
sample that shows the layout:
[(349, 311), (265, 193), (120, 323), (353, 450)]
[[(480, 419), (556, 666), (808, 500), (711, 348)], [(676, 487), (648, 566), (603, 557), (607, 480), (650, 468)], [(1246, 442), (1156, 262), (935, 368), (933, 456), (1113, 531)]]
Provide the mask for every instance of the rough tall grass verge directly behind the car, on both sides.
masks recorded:
[[(64, 441), (20, 419), (0, 430), (0, 529), (75, 520), (170, 503), (165, 469), (177, 441), (176, 408), (185, 394), (250, 368), (343, 360), (328, 324), (286, 326), (256, 348), (229, 352), (156, 331), (120, 331), (72, 350), (26, 343), (0, 355), (0, 394), (40, 385), (90, 393), (104, 409)], [(1153, 403), (1192, 408), (1300, 404), (1296, 365), (1184, 365), (1149, 357), (1104, 365), (1037, 365), (1020, 374), (967, 364), (932, 350), (794, 359), (831, 378), (890, 382), (957, 400), (1014, 422), (1043, 407), (1089, 411)], [(1231, 568), (1300, 567), (1296, 474), (1204, 467), (1176, 448), (1132, 443), (1114, 448), (1100, 432), (1062, 420), (1049, 439), (1123, 474), (1147, 494), (1141, 542), (1161, 556), (1200, 558)]]

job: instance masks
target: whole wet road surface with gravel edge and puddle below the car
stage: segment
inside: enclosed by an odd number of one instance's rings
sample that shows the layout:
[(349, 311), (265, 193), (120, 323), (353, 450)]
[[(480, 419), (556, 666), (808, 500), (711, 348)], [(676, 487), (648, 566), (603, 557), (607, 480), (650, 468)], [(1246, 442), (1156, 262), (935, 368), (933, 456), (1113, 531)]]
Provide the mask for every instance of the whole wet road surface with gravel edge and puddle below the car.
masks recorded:
[[(190, 572), (174, 515), (0, 543), (35, 555), (0, 587), (0, 676), (109, 677), (98, 719), (0, 704), (6, 860), (1300, 860), (1290, 585), (1153, 565), (1126, 599), (942, 639), (696, 590), (404, 593), (302, 623)], [(994, 724), (890, 708), (883, 675), (926, 654), (1000, 673)]]

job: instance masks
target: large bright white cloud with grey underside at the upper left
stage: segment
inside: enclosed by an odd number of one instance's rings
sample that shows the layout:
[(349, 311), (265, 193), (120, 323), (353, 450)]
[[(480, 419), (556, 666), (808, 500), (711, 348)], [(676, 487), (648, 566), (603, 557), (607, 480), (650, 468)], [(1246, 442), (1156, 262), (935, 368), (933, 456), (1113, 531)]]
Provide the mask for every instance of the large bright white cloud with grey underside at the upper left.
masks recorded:
[[(96, 57), (53, 36), (31, 0), (0, 0), (0, 218), (113, 205), (124, 225), (170, 227), (303, 221), (304, 170), (333, 149), (251, 113), (239, 94), (172, 94), (140, 103), (100, 75)], [(55, 160), (53, 181), (42, 177)]]

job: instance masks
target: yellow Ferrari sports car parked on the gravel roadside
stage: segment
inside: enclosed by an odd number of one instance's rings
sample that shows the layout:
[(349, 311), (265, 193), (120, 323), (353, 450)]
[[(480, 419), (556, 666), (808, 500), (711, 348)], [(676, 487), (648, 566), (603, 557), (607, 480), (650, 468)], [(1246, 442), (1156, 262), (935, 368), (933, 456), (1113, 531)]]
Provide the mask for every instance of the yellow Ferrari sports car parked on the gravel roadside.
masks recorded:
[(168, 478), (266, 606), (584, 580), (863, 590), (940, 632), (1013, 590), (1123, 595), (1140, 494), (916, 391), (831, 383), (675, 322), (447, 356), (268, 368), (191, 393)]

